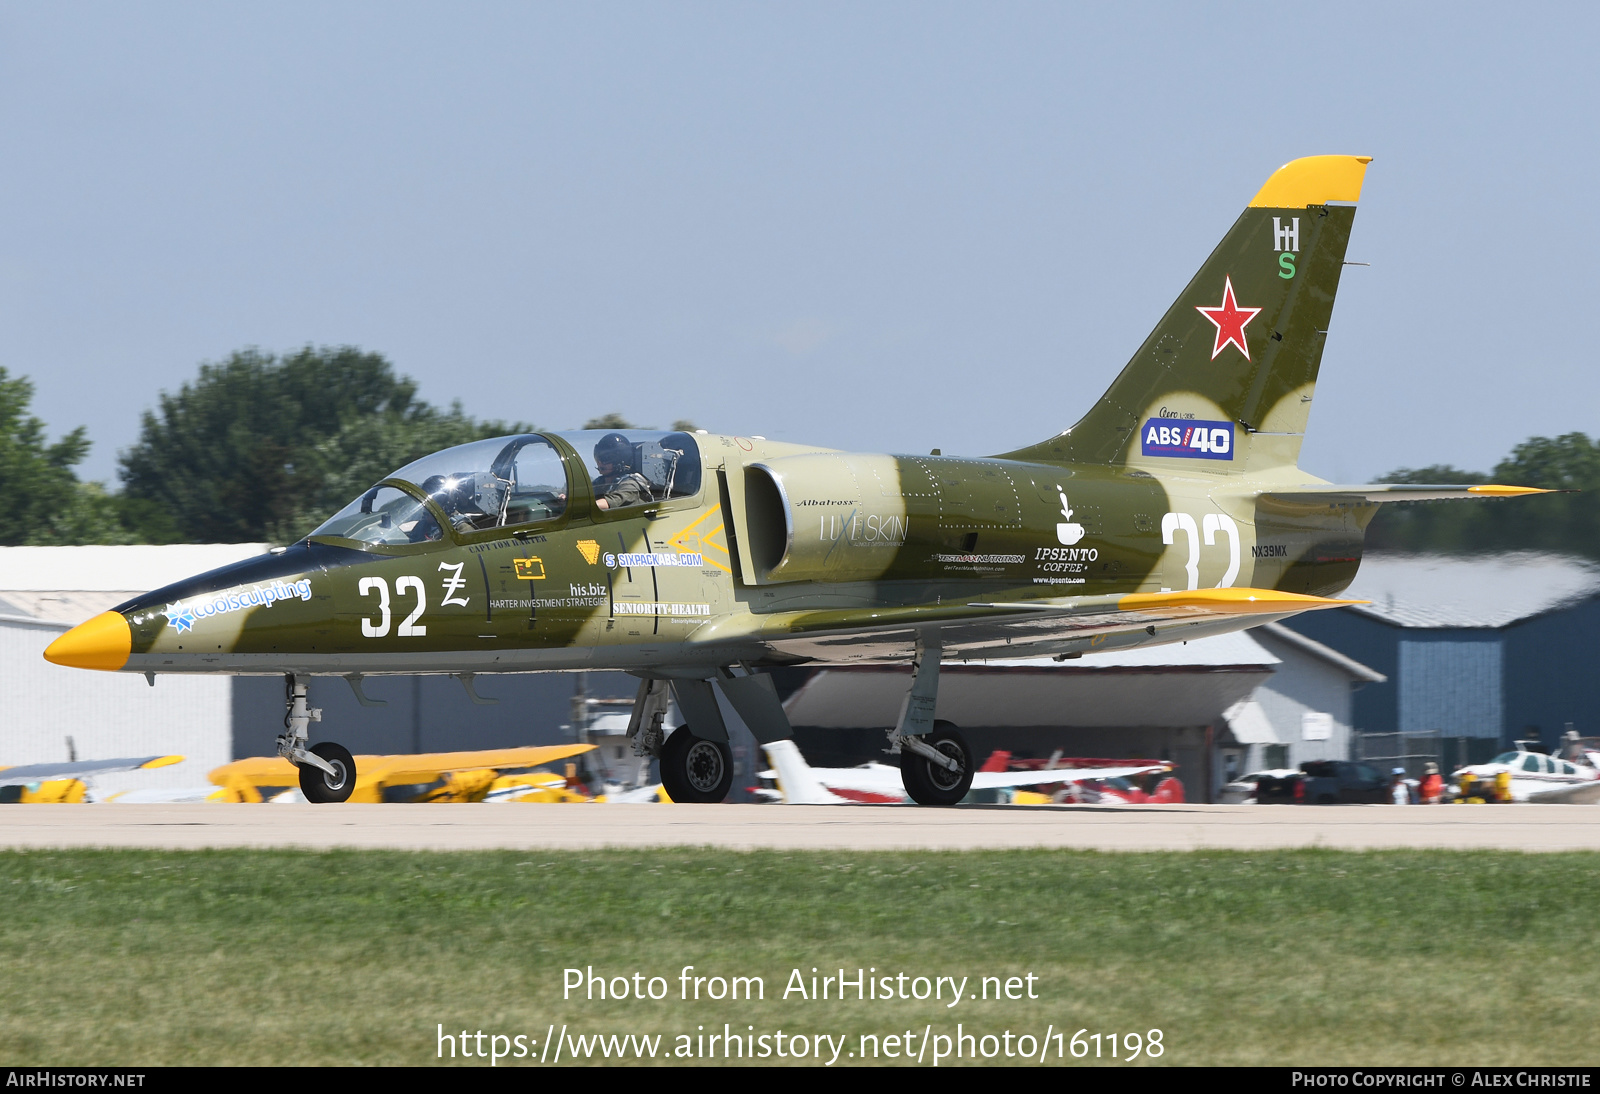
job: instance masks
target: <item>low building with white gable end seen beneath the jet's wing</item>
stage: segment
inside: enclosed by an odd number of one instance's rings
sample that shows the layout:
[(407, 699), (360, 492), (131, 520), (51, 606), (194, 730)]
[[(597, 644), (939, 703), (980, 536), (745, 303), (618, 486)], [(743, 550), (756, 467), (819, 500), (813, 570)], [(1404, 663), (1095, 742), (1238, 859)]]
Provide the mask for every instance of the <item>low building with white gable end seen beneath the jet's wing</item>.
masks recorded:
[[(1232, 776), (1350, 752), (1352, 694), (1382, 673), (1277, 624), (1082, 659), (949, 662), (938, 717), (979, 755), (1171, 760), (1190, 801)], [(784, 704), (818, 766), (882, 758), (909, 670), (818, 669)]]

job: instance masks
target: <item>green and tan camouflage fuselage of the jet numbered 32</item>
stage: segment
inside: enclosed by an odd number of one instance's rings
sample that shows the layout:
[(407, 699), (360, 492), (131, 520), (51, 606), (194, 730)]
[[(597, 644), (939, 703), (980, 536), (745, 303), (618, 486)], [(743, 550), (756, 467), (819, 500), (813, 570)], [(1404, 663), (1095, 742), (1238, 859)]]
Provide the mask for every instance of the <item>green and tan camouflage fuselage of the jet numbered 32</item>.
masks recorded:
[[(1334, 593), (1355, 574), (1371, 513), (1258, 497), (1262, 483), (1200, 469), (698, 440), (704, 475), (691, 497), (603, 512), (578, 472), (555, 520), (403, 547), (314, 539), (157, 590), (118, 608), (133, 635), (125, 669), (904, 661), (918, 625), (968, 617), (974, 603), (1246, 585)], [(1115, 629), (1016, 630), (952, 635), (947, 648), (1070, 653)], [(1114, 645), (1178, 637), (1122, 630)]]

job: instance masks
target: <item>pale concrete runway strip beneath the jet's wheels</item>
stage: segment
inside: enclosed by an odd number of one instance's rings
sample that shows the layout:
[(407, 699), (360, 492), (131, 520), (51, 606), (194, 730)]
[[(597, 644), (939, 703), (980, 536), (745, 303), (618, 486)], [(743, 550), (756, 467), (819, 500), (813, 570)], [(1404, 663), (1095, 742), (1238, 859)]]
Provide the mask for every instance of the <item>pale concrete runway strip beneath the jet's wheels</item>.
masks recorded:
[(59, 805), (0, 848), (1600, 849), (1594, 806)]

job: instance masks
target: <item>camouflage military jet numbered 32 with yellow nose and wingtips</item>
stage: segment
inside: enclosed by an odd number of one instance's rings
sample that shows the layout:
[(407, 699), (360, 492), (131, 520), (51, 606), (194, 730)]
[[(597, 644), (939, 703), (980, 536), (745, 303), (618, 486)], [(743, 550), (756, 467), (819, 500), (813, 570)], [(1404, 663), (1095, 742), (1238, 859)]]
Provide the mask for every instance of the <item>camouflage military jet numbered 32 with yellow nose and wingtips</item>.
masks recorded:
[[(941, 659), (1200, 638), (1333, 608), (1382, 502), (1517, 486), (1338, 486), (1298, 467), (1370, 157), (1275, 171), (1070, 429), (981, 459), (706, 432), (525, 433), (419, 459), (304, 541), (136, 597), (58, 638), (62, 665), (282, 673), (312, 801), (355, 785), (310, 744), (312, 677), (622, 669), (629, 736), (674, 801), (733, 777), (725, 704), (789, 736), (774, 665), (909, 664), (890, 750), (960, 801)], [(1088, 369), (1062, 373), (1062, 387)], [(1059, 392), (1056, 393), (1059, 397)], [(669, 694), (685, 725), (662, 731)]]

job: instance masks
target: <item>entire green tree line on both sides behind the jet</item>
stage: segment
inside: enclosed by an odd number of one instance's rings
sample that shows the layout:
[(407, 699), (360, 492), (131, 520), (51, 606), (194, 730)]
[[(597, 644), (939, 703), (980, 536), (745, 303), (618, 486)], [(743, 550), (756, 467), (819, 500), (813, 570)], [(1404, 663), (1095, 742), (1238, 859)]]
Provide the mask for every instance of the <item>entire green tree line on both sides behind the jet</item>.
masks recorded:
[[(83, 427), (50, 441), (34, 385), (0, 368), (0, 544), (293, 542), (362, 489), (427, 453), (533, 429), (434, 406), (379, 353), (254, 349), (205, 363), (144, 411), (122, 488), (82, 481)], [(677, 421), (674, 429), (694, 429)], [(603, 414), (584, 429), (637, 429)], [(1600, 440), (1533, 437), (1493, 472), (1400, 469), (1384, 483), (1509, 483), (1541, 497), (1384, 505), (1373, 550), (1555, 550), (1600, 558)]]

